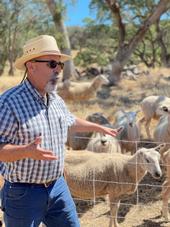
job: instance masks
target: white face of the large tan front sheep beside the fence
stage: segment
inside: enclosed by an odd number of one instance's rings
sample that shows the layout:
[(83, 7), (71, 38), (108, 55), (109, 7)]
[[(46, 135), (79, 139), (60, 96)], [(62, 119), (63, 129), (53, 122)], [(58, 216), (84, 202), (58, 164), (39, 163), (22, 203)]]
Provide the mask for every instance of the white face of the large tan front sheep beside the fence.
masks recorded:
[(162, 171), (160, 168), (160, 153), (159, 151), (163, 149), (164, 145), (159, 145), (156, 148), (142, 148), (139, 150), (140, 155), (138, 162), (142, 163), (141, 167), (148, 171), (153, 178), (160, 178), (162, 176)]

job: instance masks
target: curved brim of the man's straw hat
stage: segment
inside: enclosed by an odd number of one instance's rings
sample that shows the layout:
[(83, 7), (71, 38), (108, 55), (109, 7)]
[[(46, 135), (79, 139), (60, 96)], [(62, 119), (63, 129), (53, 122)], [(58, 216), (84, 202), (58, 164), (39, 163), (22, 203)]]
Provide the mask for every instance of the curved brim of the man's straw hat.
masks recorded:
[(58, 52), (52, 52), (52, 51), (46, 51), (46, 52), (43, 52), (43, 53), (38, 53), (38, 54), (30, 54), (30, 55), (23, 55), (22, 57), (18, 58), (16, 61), (15, 61), (15, 67), (17, 69), (20, 69), (20, 70), (25, 70), (25, 63), (27, 61), (30, 61), (34, 58), (38, 58), (38, 57), (42, 57), (42, 56), (46, 56), (46, 55), (55, 55), (55, 56), (59, 56), (60, 57), (60, 61), (61, 62), (65, 62), (65, 61), (68, 61), (71, 59), (71, 56), (70, 55), (66, 55), (66, 54), (61, 54), (61, 53), (58, 53)]

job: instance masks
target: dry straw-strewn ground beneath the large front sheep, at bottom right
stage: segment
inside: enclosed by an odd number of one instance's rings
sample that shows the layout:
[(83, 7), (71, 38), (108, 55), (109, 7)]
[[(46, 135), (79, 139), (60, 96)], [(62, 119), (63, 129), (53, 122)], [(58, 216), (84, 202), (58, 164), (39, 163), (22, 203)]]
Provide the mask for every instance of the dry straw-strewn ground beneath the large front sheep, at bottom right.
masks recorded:
[[(161, 216), (161, 185), (147, 175), (141, 182), (138, 191), (132, 196), (121, 200), (118, 222), (120, 227), (170, 227), (170, 222), (165, 222)], [(93, 201), (76, 203), (80, 213), (82, 227), (108, 227), (109, 204), (106, 201)]]

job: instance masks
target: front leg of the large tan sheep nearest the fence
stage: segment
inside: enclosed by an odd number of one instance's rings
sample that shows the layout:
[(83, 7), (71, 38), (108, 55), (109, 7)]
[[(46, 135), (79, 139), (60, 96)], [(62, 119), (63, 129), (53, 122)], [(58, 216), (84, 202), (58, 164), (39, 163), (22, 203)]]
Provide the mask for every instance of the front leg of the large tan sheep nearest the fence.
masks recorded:
[(114, 223), (114, 227), (119, 227), (119, 224), (117, 222), (117, 212), (119, 209), (120, 200), (118, 198), (114, 198), (114, 195), (109, 194), (109, 200), (110, 200), (110, 223), (109, 227), (112, 227), (112, 224)]

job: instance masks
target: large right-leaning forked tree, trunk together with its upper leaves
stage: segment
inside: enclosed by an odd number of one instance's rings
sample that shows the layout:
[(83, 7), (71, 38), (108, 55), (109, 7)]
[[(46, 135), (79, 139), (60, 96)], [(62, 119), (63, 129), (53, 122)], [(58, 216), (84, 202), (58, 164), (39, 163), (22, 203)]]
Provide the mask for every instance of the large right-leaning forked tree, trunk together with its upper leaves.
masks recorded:
[[(121, 71), (124, 65), (128, 62), (131, 55), (136, 50), (139, 43), (143, 40), (150, 27), (160, 19), (161, 15), (164, 14), (170, 8), (169, 0), (157, 1), (146, 0), (146, 1), (118, 1), (118, 0), (92, 0), (91, 6), (97, 6), (101, 15), (101, 12), (106, 12), (105, 17), (109, 18), (112, 16), (113, 26), (115, 24), (118, 27), (119, 42), (117, 47), (116, 56), (112, 59), (112, 77), (110, 78), (111, 85), (120, 81)], [(151, 7), (148, 7), (151, 6)], [(108, 7), (108, 8), (107, 8)], [(124, 10), (124, 12), (122, 12)], [(126, 23), (128, 18), (125, 17), (125, 12), (129, 10), (129, 17), (131, 23), (133, 20), (134, 26), (136, 26), (136, 32), (129, 39), (127, 38)], [(127, 15), (126, 15), (127, 16)]]

